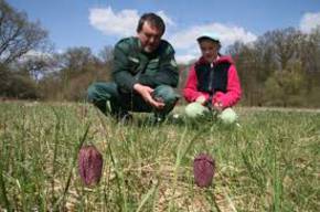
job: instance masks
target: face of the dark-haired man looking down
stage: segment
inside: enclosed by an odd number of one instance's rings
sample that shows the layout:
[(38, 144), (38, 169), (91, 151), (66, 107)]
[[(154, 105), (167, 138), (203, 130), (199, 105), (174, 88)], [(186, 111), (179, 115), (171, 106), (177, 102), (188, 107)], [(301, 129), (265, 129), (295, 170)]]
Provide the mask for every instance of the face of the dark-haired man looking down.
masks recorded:
[(151, 53), (158, 49), (161, 41), (161, 31), (156, 26), (145, 22), (140, 32), (138, 32), (138, 38), (141, 42), (141, 46), (145, 52)]

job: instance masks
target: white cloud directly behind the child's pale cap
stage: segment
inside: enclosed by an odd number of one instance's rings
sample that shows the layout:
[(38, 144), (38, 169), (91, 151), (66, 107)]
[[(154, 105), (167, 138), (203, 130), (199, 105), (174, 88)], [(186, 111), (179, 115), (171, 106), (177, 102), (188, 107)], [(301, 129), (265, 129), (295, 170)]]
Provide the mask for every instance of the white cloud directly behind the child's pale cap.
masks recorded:
[[(188, 30), (179, 31), (170, 36), (170, 42), (177, 50), (177, 61), (188, 62), (200, 56), (196, 38), (203, 32), (214, 32), (221, 38), (222, 46), (233, 44), (235, 41), (244, 43), (253, 42), (257, 39), (252, 32), (234, 25), (222, 23), (210, 23), (204, 25), (192, 26)], [(182, 61), (185, 59), (185, 61)]]

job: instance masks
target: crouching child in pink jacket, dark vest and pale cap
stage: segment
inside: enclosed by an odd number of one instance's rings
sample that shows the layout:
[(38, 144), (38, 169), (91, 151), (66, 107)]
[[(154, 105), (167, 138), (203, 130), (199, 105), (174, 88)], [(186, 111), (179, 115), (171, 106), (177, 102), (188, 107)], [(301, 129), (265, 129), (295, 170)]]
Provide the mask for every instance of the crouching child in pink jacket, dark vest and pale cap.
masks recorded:
[(196, 102), (223, 115), (226, 108), (241, 99), (242, 91), (235, 64), (231, 56), (218, 53), (221, 42), (215, 34), (203, 33), (198, 38), (198, 43), (202, 56), (189, 71), (183, 96), (189, 103)]

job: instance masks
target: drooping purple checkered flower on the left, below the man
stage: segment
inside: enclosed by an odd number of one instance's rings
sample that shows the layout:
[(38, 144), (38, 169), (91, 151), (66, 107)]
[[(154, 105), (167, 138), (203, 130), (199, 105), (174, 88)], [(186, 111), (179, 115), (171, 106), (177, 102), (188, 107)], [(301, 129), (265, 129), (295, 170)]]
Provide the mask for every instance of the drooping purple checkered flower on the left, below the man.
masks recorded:
[(84, 146), (78, 152), (78, 172), (85, 186), (99, 182), (103, 174), (103, 156), (93, 145)]

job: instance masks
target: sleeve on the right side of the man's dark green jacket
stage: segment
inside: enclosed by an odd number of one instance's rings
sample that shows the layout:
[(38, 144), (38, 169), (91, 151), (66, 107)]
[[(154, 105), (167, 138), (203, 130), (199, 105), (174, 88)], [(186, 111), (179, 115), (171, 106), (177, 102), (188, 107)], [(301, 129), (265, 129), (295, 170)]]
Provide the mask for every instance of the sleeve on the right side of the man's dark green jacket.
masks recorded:
[(179, 71), (174, 59), (174, 51), (170, 46), (168, 53), (160, 59), (159, 71), (154, 75), (142, 74), (139, 83), (157, 87), (159, 85), (170, 85), (177, 87), (179, 82)]

